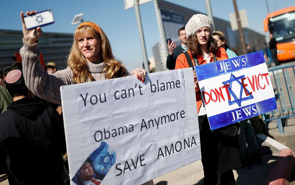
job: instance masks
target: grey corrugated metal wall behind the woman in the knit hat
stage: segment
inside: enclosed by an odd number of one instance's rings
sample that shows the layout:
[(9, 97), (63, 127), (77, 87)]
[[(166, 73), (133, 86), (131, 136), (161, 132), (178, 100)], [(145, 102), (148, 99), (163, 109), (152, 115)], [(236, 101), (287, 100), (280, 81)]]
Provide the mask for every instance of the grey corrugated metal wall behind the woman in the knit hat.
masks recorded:
[[(185, 24), (189, 21), (191, 16), (193, 16), (194, 14), (206, 14), (205, 10), (204, 10), (204, 12), (192, 10), (194, 7), (191, 7), (192, 9), (189, 9), (189, 8), (185, 8), (183, 6), (179, 6), (179, 5), (169, 3), (169, 2), (163, 1), (163, 0), (157, 0), (157, 2), (158, 2), (159, 9), (165, 9), (168, 11), (173, 11), (173, 12), (177, 12), (179, 14), (183, 14)], [(222, 10), (220, 10), (220, 11), (222, 11)], [(227, 39), (227, 44), (229, 46), (235, 46), (235, 48), (238, 51), (238, 56), (241, 55), (242, 48), (241, 48), (241, 44), (239, 42), (239, 36), (238, 36), (237, 31), (231, 30), (230, 22), (225, 21), (223, 19), (219, 19), (217, 17), (214, 17), (214, 24), (215, 24), (214, 30), (215, 31), (217, 31), (217, 30), (222, 31), (226, 37), (225, 39)], [(254, 44), (256, 50), (259, 50), (261, 47), (260, 44), (262, 42), (265, 42), (265, 36), (263, 34), (260, 34), (256, 31), (253, 31), (248, 28), (244, 28), (243, 31), (245, 34), (246, 44)], [(229, 36), (230, 36), (230, 38), (229, 38)]]

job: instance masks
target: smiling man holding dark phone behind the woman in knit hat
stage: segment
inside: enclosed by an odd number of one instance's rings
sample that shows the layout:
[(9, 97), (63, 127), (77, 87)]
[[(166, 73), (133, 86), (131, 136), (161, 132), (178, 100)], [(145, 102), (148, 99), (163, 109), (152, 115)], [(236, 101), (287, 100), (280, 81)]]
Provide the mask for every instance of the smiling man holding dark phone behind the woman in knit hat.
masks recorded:
[(175, 62), (178, 55), (187, 51), (187, 36), (184, 26), (178, 30), (178, 39), (181, 40), (181, 45), (176, 46), (173, 40), (167, 39), (168, 56), (166, 60), (167, 69), (175, 69)]

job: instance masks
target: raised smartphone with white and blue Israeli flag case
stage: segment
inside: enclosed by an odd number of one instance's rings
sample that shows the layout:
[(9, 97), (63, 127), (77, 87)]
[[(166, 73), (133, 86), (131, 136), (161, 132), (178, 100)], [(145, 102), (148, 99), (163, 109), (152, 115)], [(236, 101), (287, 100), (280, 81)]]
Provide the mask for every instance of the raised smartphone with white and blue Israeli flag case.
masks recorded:
[(53, 13), (51, 9), (39, 11), (36, 14), (24, 16), (24, 24), (27, 29), (35, 29), (38, 26), (47, 26), (54, 23)]

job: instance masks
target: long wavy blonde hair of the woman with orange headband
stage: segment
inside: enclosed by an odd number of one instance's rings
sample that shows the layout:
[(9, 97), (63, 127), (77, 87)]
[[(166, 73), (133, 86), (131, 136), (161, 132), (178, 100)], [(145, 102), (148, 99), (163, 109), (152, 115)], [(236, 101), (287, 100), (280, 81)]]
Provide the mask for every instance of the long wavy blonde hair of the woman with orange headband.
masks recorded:
[(74, 33), (73, 45), (68, 56), (68, 66), (73, 71), (73, 77), (71, 79), (73, 84), (95, 81), (90, 71), (88, 70), (87, 60), (78, 47), (78, 39), (83, 37), (85, 34), (97, 36), (97, 38), (101, 40), (101, 51), (99, 54), (101, 55), (101, 61), (106, 63), (106, 67), (103, 70), (106, 79), (126, 76), (125, 67), (120, 61), (115, 59), (112, 53), (109, 39), (107, 38), (101, 27), (98, 27), (100, 30), (100, 34), (88, 25), (83, 25), (77, 28)]

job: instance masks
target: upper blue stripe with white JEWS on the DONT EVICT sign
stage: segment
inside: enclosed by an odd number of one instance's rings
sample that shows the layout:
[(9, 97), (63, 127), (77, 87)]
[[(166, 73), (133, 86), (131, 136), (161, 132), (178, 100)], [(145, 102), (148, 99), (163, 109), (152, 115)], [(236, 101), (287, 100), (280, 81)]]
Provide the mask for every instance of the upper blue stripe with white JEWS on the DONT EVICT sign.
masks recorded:
[(214, 76), (219, 76), (233, 71), (257, 66), (265, 62), (263, 51), (237, 56), (235, 58), (212, 62), (209, 64), (195, 66), (198, 80), (205, 80)]

